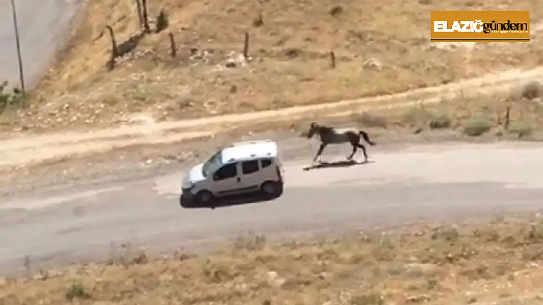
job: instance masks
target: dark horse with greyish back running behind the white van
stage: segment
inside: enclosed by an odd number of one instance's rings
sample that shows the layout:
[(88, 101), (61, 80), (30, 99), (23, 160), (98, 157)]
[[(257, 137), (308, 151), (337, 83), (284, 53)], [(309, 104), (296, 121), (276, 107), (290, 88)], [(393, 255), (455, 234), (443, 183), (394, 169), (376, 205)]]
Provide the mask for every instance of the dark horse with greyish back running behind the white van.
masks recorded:
[(315, 155), (315, 158), (313, 158), (313, 162), (317, 160), (317, 158), (320, 157), (320, 155), (323, 153), (324, 148), (329, 144), (342, 144), (349, 142), (352, 146), (352, 153), (347, 157), (348, 160), (352, 160), (353, 155), (355, 155), (357, 148), (362, 148), (362, 152), (364, 153), (365, 161), (368, 162), (368, 153), (366, 152), (366, 147), (362, 144), (360, 144), (361, 138), (364, 138), (366, 142), (368, 142), (369, 145), (375, 146), (375, 142), (372, 142), (369, 138), (369, 135), (367, 132), (362, 130), (357, 130), (354, 128), (335, 128), (335, 127), (328, 127), (328, 126), (322, 126), (315, 122), (312, 122), (309, 128), (309, 131), (307, 132), (307, 138), (311, 139), (313, 135), (318, 134), (320, 138), (320, 147), (319, 151)]

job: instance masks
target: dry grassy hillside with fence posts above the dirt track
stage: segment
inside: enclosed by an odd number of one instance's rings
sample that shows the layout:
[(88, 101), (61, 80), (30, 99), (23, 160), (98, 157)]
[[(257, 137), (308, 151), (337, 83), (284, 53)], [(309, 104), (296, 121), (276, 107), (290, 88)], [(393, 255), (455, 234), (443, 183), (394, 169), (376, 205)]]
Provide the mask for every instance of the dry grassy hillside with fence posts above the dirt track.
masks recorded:
[[(150, 16), (166, 7), (178, 44), (175, 59), (168, 54), (167, 31), (150, 34), (134, 51), (138, 59), (106, 73), (109, 39), (96, 37), (107, 24), (119, 43), (134, 34), (136, 5), (91, 1), (34, 105), (4, 119), (0, 128), (104, 127), (135, 112), (159, 120), (253, 112), (401, 92), (543, 63), (540, 43), (441, 49), (428, 41), (431, 10), (525, 9), (535, 28), (543, 7), (534, 0), (348, 0), (340, 7), (331, 0), (163, 0), (149, 5)], [(259, 14), (261, 23), (255, 21)], [(239, 57), (244, 31), (250, 34), (250, 63), (225, 68), (231, 51)], [(197, 49), (194, 55), (191, 48)], [(367, 64), (372, 59), (379, 67)]]

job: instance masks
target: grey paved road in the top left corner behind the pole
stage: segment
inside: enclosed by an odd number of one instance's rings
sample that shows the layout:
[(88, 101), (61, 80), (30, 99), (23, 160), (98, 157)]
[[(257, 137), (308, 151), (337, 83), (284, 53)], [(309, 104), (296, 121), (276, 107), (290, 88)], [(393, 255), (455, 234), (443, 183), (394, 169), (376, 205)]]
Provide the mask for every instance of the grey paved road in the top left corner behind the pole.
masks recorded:
[[(23, 72), (27, 88), (46, 72), (64, 43), (79, 0), (15, 0)], [(10, 0), (0, 0), (0, 82), (20, 87)]]

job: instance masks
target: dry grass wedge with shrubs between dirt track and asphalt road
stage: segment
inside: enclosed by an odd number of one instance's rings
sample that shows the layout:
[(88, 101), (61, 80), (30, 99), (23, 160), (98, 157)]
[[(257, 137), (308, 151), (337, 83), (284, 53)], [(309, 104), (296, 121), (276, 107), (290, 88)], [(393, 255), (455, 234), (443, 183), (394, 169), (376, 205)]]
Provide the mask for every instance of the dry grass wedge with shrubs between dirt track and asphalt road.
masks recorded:
[(492, 136), (528, 137), (543, 130), (543, 102), (540, 98), (522, 98), (524, 92), (460, 94), (432, 105), (354, 112), (350, 120), (361, 127), (407, 128), (415, 133), (453, 129), (471, 136), (492, 132)]

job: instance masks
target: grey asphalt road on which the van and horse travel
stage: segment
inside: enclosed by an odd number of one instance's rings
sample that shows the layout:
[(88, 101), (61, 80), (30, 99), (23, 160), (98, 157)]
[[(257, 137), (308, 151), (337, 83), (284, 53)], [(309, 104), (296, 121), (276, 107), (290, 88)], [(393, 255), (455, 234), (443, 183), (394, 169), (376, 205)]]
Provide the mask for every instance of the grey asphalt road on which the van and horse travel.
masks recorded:
[(216, 210), (180, 207), (182, 173), (10, 199), (0, 202), (0, 273), (22, 271), (26, 255), (34, 268), (106, 258), (111, 242), (158, 251), (248, 230), (279, 237), (534, 211), (543, 206), (542, 155), (543, 145), (513, 143), (373, 149), (372, 163), (311, 171), (289, 161), (281, 198)]

